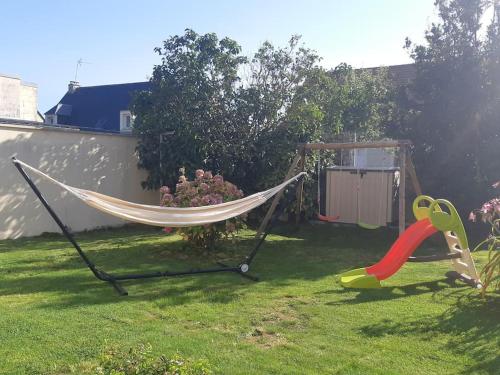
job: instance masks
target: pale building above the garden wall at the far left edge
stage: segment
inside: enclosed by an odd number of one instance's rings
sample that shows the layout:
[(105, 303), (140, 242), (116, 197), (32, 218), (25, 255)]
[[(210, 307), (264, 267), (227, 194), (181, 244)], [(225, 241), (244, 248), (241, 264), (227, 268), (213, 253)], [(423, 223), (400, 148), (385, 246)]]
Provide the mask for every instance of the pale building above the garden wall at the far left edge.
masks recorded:
[(38, 112), (37, 85), (0, 74), (0, 118), (43, 122), (43, 116)]

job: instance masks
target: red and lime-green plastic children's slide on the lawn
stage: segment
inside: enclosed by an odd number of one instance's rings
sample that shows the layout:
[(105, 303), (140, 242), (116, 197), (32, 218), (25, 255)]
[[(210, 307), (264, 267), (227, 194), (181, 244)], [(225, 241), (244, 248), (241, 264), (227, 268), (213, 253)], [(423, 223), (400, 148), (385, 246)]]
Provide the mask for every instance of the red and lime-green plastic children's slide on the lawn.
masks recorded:
[[(429, 206), (420, 204), (427, 202)], [(446, 207), (449, 212), (442, 209)], [(413, 203), (417, 222), (410, 225), (394, 242), (385, 256), (376, 264), (348, 271), (340, 275), (340, 282), (346, 288), (380, 288), (380, 281), (394, 275), (429, 236), (438, 231), (445, 235), (453, 257), (455, 270), (467, 279), (480, 283), (474, 262), (470, 257), (467, 236), (460, 216), (453, 205), (443, 199), (434, 200), (419, 196)], [(451, 259), (451, 258), (450, 258)]]

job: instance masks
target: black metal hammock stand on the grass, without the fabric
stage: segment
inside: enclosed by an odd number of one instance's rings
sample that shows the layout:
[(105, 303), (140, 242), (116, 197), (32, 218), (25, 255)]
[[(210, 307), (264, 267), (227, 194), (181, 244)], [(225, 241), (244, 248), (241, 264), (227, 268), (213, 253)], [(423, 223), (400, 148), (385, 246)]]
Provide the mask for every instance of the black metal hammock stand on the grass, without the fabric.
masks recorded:
[[(257, 255), (257, 252), (259, 251), (260, 247), (266, 240), (266, 237), (269, 233), (269, 231), (272, 229), (273, 225), (275, 224), (276, 220), (278, 217), (283, 213), (283, 211), (286, 208), (286, 205), (283, 205), (280, 210), (277, 211), (277, 213), (274, 213), (271, 218), (265, 221), (265, 227), (263, 231), (259, 230), (259, 233), (256, 236), (256, 244), (254, 248), (250, 251), (250, 253), (245, 256), (245, 258), (238, 263), (237, 265), (230, 266), (226, 265), (223, 263), (217, 262), (218, 267), (213, 267), (213, 268), (205, 268), (205, 269), (190, 269), (190, 270), (185, 270), (185, 271), (163, 271), (163, 272), (150, 272), (150, 273), (137, 273), (137, 274), (119, 274), (119, 275), (114, 275), (114, 274), (109, 274), (107, 272), (102, 271), (99, 269), (87, 256), (87, 254), (83, 251), (83, 249), (80, 247), (78, 242), (76, 241), (75, 237), (73, 236), (73, 233), (69, 230), (69, 228), (64, 225), (62, 220), (57, 216), (55, 211), (52, 209), (52, 207), (49, 205), (47, 200), (44, 198), (36, 184), (33, 182), (33, 180), (28, 176), (26, 171), (23, 169), (22, 165), (19, 163), (19, 161), (15, 158), (12, 157), (12, 162), (14, 163), (15, 167), (23, 176), (23, 178), (26, 180), (30, 188), (33, 190), (35, 195), (38, 197), (42, 205), (45, 207), (45, 209), (48, 211), (52, 219), (56, 222), (56, 224), (59, 226), (61, 229), (62, 233), (66, 237), (66, 239), (73, 245), (75, 250), (77, 251), (78, 255), (82, 258), (86, 266), (90, 269), (92, 274), (99, 280), (108, 282), (110, 283), (115, 290), (122, 296), (128, 295), (127, 290), (120, 284), (120, 281), (125, 281), (125, 280), (139, 280), (139, 279), (152, 279), (152, 278), (162, 278), (162, 277), (176, 277), (176, 276), (186, 276), (186, 275), (199, 275), (199, 274), (209, 274), (209, 273), (219, 273), (219, 272), (233, 272), (237, 273), (242, 277), (245, 277), (247, 279), (250, 279), (252, 281), (258, 281), (258, 278), (252, 275), (247, 274), (247, 272), (250, 269), (250, 265)], [(303, 174), (297, 177), (297, 181), (303, 178)], [(283, 188), (277, 196), (277, 197), (282, 197), (283, 195)], [(273, 202), (274, 203), (274, 202)], [(264, 223), (262, 223), (264, 224)], [(261, 225), (262, 226), (262, 225)]]

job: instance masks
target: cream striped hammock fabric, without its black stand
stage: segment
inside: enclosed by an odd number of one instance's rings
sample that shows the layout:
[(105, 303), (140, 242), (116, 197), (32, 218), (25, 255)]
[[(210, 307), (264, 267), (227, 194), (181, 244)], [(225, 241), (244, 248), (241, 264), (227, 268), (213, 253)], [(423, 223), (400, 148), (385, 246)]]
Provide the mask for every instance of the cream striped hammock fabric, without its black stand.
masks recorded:
[(94, 191), (75, 188), (57, 181), (21, 160), (16, 160), (16, 163), (19, 163), (38, 176), (59, 185), (61, 188), (67, 190), (75, 197), (99, 211), (124, 220), (159, 227), (190, 227), (215, 223), (239, 216), (264, 204), (269, 198), (272, 198), (288, 184), (298, 180), (299, 177), (305, 174), (305, 172), (299, 173), (269, 190), (255, 193), (231, 202), (202, 207), (162, 207), (127, 202)]

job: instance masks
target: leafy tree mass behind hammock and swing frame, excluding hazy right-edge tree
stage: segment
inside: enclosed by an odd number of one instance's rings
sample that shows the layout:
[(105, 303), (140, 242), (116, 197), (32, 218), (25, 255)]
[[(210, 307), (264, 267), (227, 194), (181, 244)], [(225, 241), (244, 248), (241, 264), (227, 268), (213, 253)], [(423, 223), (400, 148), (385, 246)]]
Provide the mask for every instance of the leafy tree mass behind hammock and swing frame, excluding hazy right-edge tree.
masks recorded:
[[(392, 110), (384, 72), (325, 71), (297, 36), (285, 47), (265, 42), (250, 60), (235, 41), (191, 30), (156, 51), (152, 90), (133, 105), (149, 188), (174, 183), (186, 167), (222, 173), (252, 193), (283, 178), (297, 143), (344, 131), (378, 137)], [(167, 130), (175, 134), (160, 144)]]

